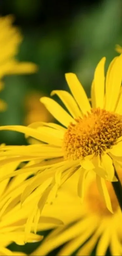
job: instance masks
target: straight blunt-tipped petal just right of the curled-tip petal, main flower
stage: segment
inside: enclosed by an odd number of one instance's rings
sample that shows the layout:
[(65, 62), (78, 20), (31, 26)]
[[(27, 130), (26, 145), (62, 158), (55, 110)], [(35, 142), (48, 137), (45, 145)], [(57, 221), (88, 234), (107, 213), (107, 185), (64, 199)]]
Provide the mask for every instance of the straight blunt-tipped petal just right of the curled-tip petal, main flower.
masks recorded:
[(86, 114), (87, 111), (91, 110), (91, 106), (80, 81), (78, 80), (77, 76), (73, 73), (65, 74), (65, 78), (74, 96), (74, 99), (76, 100), (83, 114)]

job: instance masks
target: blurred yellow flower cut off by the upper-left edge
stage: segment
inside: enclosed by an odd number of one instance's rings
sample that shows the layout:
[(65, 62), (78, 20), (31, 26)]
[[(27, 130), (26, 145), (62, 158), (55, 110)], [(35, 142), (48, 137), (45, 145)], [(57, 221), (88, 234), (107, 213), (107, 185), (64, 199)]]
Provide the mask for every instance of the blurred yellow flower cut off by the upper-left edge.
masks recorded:
[[(19, 62), (16, 55), (22, 36), (12, 23), (11, 15), (0, 17), (0, 91), (3, 88), (2, 78), (8, 74), (35, 73), (37, 66), (30, 62)], [(6, 110), (7, 104), (0, 99), (0, 111)]]

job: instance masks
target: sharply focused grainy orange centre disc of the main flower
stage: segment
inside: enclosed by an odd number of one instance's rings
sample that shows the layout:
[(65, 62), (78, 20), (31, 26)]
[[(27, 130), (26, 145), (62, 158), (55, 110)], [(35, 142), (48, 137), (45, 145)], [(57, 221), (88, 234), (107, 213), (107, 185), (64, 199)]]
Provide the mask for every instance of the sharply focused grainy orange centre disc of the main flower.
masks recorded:
[(101, 155), (116, 144), (122, 136), (122, 116), (104, 109), (91, 109), (83, 119), (75, 119), (64, 134), (65, 159), (82, 159), (94, 154)]

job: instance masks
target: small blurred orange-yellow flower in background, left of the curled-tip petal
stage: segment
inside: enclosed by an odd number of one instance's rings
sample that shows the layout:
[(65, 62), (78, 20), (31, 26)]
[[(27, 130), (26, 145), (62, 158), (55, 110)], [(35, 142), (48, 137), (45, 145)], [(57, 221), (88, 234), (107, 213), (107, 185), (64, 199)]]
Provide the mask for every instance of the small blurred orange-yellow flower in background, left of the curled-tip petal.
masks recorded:
[(40, 104), (39, 99), (44, 93), (31, 91), (25, 98), (25, 125), (34, 122), (51, 122), (53, 116), (48, 112), (44, 104)]

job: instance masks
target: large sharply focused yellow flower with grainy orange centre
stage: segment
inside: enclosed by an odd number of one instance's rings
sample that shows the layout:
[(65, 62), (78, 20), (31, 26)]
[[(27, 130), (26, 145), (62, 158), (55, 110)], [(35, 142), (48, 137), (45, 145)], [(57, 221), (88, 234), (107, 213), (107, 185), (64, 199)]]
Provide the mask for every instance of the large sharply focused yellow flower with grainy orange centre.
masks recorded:
[(61, 184), (78, 170), (77, 193), (83, 201), (85, 179), (93, 170), (107, 208), (113, 212), (105, 180), (116, 181), (115, 169), (122, 165), (122, 55), (112, 60), (106, 79), (104, 63), (105, 57), (94, 73), (91, 105), (77, 76), (72, 73), (66, 74), (66, 81), (73, 96), (59, 90), (51, 93), (59, 96), (69, 113), (53, 99), (41, 98), (62, 126), (38, 122), (29, 127), (0, 127), (0, 130), (22, 132), (26, 137), (38, 140), (38, 144), (29, 146), (6, 146), (0, 153), (1, 157), (7, 157), (0, 160), (1, 165), (15, 160), (35, 161), (35, 164), (9, 174), (9, 177), (26, 171), (37, 174), (22, 193), (21, 203), (34, 191), (41, 212), (46, 202), (54, 200)]

